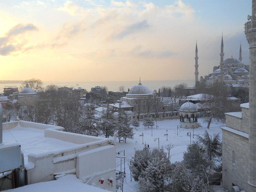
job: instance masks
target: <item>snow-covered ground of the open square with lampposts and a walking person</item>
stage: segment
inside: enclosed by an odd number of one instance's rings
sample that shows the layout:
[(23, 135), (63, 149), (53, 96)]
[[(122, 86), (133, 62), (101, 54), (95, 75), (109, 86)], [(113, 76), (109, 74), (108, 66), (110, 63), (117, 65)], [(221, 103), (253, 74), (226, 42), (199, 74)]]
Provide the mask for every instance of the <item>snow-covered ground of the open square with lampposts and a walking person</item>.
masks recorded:
[[(173, 148), (171, 149), (171, 162), (174, 163), (175, 161), (182, 161), (183, 160), (183, 152), (187, 151), (187, 146), (190, 144), (190, 132), (191, 132), (191, 143), (197, 140), (196, 135), (202, 136), (204, 131), (207, 130), (210, 135), (220, 133), (220, 139), (222, 141), (222, 132), (220, 127), (225, 126), (222, 122), (218, 122), (217, 120), (212, 119), (212, 123), (210, 125), (210, 129), (207, 129), (208, 122), (205, 121), (204, 118), (198, 119), (198, 122), (201, 124), (201, 127), (194, 129), (194, 138), (193, 138), (193, 129), (185, 129), (180, 128), (178, 129), (177, 134), (177, 125), (180, 124), (179, 119), (173, 120), (159, 120), (157, 121), (157, 129), (156, 129), (156, 122), (153, 126), (152, 130), (151, 127), (145, 128), (140, 122), (140, 127), (138, 130), (134, 130), (134, 139), (127, 139), (126, 143), (121, 141), (121, 143), (117, 143), (116, 151), (125, 151), (125, 173), (126, 177), (124, 181), (124, 191), (125, 192), (134, 192), (137, 191), (138, 183), (133, 180), (131, 181), (131, 174), (130, 174), (130, 160), (132, 156), (134, 156), (135, 149), (142, 149), (144, 145), (149, 145), (150, 150), (154, 148), (158, 148), (158, 138), (160, 149), (163, 146), (164, 151), (167, 152), (165, 146), (167, 144), (172, 143)], [(168, 131), (168, 140), (166, 140), (166, 130)], [(142, 144), (142, 135), (143, 133), (143, 143)], [(152, 133), (152, 136), (151, 136)], [(189, 134), (189, 136), (187, 135)], [(157, 139), (156, 139), (157, 138)], [(155, 141), (156, 139), (156, 141)], [(117, 141), (118, 142), (118, 141)], [(123, 156), (123, 152), (120, 152), (120, 157)], [(116, 170), (120, 171), (121, 169), (121, 158), (116, 158)], [(124, 158), (122, 158), (122, 170), (124, 172)], [(120, 188), (118, 191), (121, 191)]]

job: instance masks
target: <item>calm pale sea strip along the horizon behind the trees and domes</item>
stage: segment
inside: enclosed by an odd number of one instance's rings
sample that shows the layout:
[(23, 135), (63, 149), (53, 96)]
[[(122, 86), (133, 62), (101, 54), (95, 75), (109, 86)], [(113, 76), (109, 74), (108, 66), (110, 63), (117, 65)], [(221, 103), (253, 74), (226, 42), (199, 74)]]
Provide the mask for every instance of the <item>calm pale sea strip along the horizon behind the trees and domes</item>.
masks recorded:
[[(18, 83), (17, 83), (18, 82)], [(6, 82), (0, 82), (0, 92), (4, 92), (4, 87), (8, 86), (17, 86), (20, 91), (21, 83), (19, 81), (13, 82), (13, 81), (6, 81)], [(165, 87), (174, 87), (175, 85), (179, 85), (181, 83), (187, 84), (187, 87), (194, 87), (195, 86), (195, 80), (167, 80), (167, 81), (141, 81), (142, 85), (147, 86), (151, 91), (157, 90), (161, 88), (162, 86)], [(106, 81), (106, 82), (54, 82), (54, 81), (46, 81), (43, 82), (43, 87), (46, 87), (47, 85), (55, 84), (59, 87), (73, 87), (73, 89), (77, 88), (84, 88), (87, 91), (91, 91), (92, 87), (95, 86), (106, 86), (108, 88), (108, 91), (117, 92), (118, 88), (123, 85), (125, 91), (128, 91), (128, 88), (131, 89), (133, 86), (138, 85), (139, 81)]]

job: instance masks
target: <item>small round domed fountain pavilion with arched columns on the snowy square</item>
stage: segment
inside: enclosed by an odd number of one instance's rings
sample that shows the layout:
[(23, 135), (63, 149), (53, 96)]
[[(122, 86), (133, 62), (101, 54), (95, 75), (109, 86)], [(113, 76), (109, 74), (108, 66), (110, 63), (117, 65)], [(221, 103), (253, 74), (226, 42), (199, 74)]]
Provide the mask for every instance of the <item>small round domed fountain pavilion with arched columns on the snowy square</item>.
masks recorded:
[(186, 102), (180, 106), (180, 127), (196, 128), (200, 124), (197, 122), (198, 109), (194, 103)]

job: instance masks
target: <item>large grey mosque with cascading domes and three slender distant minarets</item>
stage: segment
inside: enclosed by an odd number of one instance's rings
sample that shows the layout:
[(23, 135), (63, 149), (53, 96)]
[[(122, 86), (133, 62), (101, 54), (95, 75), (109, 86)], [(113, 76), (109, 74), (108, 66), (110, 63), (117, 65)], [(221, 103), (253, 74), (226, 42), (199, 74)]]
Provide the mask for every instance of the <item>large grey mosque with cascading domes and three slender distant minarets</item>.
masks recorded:
[(223, 60), (224, 58), (224, 45), (223, 45), (223, 36), (221, 37), (220, 45), (220, 65), (213, 67), (213, 72), (207, 76), (201, 76), (200, 81), (198, 81), (198, 50), (196, 43), (196, 63), (195, 63), (195, 76), (196, 84), (206, 84), (212, 85), (218, 82), (223, 83), (224, 85), (232, 84), (248, 84), (249, 83), (249, 65), (244, 65), (242, 63), (242, 48), (240, 44), (239, 58), (236, 59), (233, 57), (231, 52), (230, 58)]

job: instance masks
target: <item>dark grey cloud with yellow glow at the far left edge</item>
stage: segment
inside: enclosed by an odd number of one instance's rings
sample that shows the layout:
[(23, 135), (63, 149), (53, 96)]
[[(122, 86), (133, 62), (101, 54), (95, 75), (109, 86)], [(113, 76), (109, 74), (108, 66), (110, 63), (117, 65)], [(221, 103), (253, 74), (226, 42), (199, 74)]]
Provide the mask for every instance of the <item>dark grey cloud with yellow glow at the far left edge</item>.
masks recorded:
[(38, 30), (33, 24), (18, 24), (11, 28), (3, 37), (0, 37), (0, 55), (6, 56), (12, 52), (24, 51), (27, 40), (20, 37), (21, 34)]

